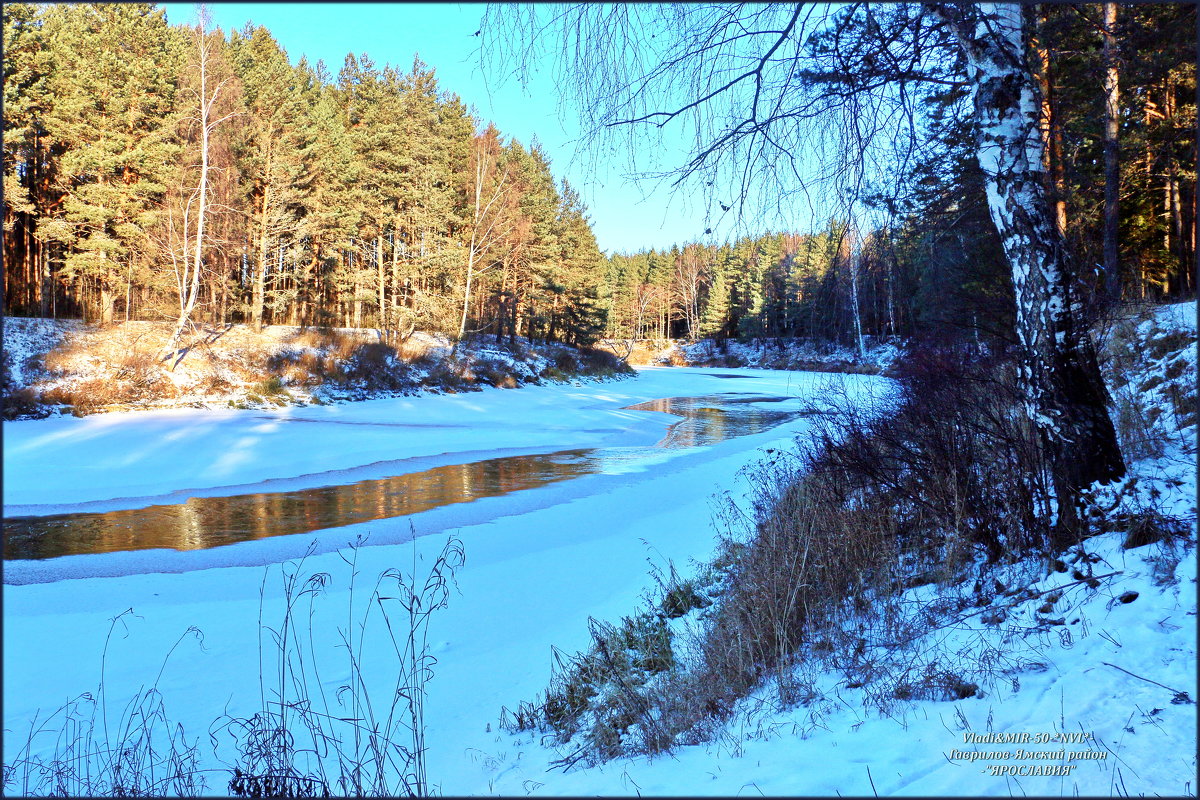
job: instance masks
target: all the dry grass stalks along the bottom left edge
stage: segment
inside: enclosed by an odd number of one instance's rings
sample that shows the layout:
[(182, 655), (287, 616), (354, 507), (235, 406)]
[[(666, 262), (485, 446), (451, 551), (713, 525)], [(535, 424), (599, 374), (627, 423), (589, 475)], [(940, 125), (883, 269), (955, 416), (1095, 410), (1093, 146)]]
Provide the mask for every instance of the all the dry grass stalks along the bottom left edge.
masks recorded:
[[(464, 563), (462, 543), (449, 539), (426, 570), (418, 565), (414, 549), (412, 566), (379, 575), (365, 603), (356, 585), (362, 543), (352, 545), (349, 555), (340, 553), (349, 573), (347, 624), (336, 631), (337, 646), (346, 654), (338, 673), (346, 678), (340, 681), (323, 678), (322, 663), (328, 669), (329, 660), (317, 643), (328, 639), (313, 631), (319, 599), (334, 577), (307, 573), (305, 559), (264, 572), (258, 619), (260, 708), (247, 717), (226, 714), (208, 732), (218, 754), (223, 746), (232, 750), (227, 772), (205, 775), (198, 769), (197, 740), (170, 721), (158, 691), (170, 654), (185, 639), (194, 637), (203, 648), (198, 628), (180, 637), (149, 688), (138, 691), (118, 715), (110, 714), (104, 662), (113, 632), (133, 614), (130, 609), (113, 619), (96, 692), (30, 723), (24, 746), (4, 764), (4, 793), (202, 796), (211, 780), (218, 794), (234, 796), (427, 796), (424, 708), (437, 663), (427, 632), (431, 615), (446, 607), (455, 572)], [(268, 610), (275, 602), (268, 591), (272, 573), (282, 602), (275, 622)], [(390, 644), (386, 663), (371, 655), (372, 640)], [(336, 686), (330, 690), (326, 684)]]

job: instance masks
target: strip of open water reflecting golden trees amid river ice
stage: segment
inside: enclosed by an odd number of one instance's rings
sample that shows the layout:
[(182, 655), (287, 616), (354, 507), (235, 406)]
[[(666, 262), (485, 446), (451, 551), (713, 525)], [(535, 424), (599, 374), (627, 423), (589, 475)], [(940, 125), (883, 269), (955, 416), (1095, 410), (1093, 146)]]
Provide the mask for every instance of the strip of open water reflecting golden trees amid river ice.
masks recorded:
[(293, 492), (190, 498), (101, 513), (4, 521), (5, 559), (44, 559), (146, 548), (203, 549), (234, 542), (404, 517), (454, 503), (520, 492), (581, 475), (620, 473), (662, 458), (662, 449), (712, 445), (796, 416), (750, 405), (784, 397), (673, 397), (630, 405), (683, 416), (654, 447), (563, 450), (488, 458), (395, 477)]

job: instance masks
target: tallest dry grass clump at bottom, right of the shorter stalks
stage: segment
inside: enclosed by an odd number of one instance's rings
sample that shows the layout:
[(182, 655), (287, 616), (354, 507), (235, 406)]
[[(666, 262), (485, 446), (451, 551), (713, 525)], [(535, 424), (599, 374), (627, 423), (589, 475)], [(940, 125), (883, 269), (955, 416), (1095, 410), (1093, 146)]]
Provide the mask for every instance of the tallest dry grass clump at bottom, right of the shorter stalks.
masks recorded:
[[(358, 606), (355, 576), (361, 540), (344, 557), (350, 614)], [(332, 577), (306, 575), (304, 560), (281, 569), (283, 618), (263, 620), (260, 650), (265, 664), (262, 710), (251, 717), (224, 717), (216, 734), (228, 736), (238, 753), (229, 792), (236, 796), (427, 796), (425, 768), (425, 686), (436, 660), (428, 654), (430, 618), (446, 607), (455, 571), (462, 566), (461, 542), (449, 539), (424, 575), (388, 570), (376, 581), (366, 610), (336, 632), (347, 654), (348, 679), (332, 691), (318, 672), (311, 628), (314, 603)], [(265, 577), (264, 577), (265, 594)], [(362, 608), (362, 606), (358, 606)], [(364, 646), (388, 640), (394, 658), (371, 662)], [(329, 646), (328, 644), (324, 646)], [(378, 681), (386, 670), (388, 681)], [(386, 684), (388, 692), (371, 690)]]

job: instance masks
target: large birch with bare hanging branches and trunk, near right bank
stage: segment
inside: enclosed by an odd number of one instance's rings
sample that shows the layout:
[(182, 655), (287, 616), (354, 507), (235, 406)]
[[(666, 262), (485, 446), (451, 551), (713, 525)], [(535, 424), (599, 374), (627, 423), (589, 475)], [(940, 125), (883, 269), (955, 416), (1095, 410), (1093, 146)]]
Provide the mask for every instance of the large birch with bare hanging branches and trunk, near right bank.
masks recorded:
[(623, 132), (644, 151), (668, 126), (684, 128), (676, 140), (695, 144), (668, 172), (674, 186), (722, 209), (720, 193), (732, 196), (744, 215), (794, 216), (821, 194), (845, 203), (848, 217), (920, 151), (920, 101), (972, 86), (976, 154), (1016, 287), (1021, 381), (1060, 530), (1072, 528), (1080, 491), (1123, 474), (1043, 182), (1040, 98), (1020, 5), (493, 6), (484, 30), (485, 52), (518, 70), (547, 43), (558, 48), (560, 84), (574, 88), (593, 143)]

